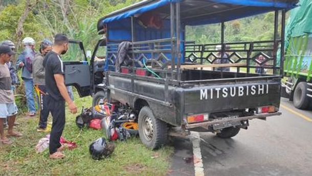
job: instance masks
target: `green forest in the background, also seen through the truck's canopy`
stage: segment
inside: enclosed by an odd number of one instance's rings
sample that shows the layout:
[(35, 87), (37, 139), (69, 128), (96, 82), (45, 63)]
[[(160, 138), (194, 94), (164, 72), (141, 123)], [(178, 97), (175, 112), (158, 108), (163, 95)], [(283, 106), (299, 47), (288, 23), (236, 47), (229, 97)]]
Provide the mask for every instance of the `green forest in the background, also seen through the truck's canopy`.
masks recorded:
[[(97, 34), (97, 21), (105, 14), (139, 2), (138, 0), (0, 0), (0, 41), (11, 40), (17, 52), (21, 40), (32, 37), (37, 43), (50, 40), (56, 33), (81, 40), (85, 50), (93, 51), (103, 36)], [(281, 20), (279, 20), (281, 21)], [(274, 37), (274, 13), (226, 22), (225, 41), (271, 40)], [(187, 40), (198, 44), (220, 42), (220, 24), (187, 27)], [(36, 45), (38, 50), (39, 44)], [(13, 58), (13, 62), (15, 59)], [(24, 94), (19, 86), (17, 94)], [(17, 99), (23, 105), (26, 98)], [(23, 106), (20, 106), (23, 107)]]

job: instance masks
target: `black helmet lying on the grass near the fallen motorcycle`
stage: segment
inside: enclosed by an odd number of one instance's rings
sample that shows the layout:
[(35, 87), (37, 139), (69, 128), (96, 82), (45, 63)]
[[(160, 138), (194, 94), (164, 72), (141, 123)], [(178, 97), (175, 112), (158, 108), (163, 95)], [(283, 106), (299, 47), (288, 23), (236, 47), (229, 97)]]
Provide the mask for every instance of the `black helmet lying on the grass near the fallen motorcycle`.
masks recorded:
[(114, 143), (106, 142), (105, 138), (99, 138), (92, 142), (89, 147), (89, 152), (94, 160), (107, 158), (114, 152)]

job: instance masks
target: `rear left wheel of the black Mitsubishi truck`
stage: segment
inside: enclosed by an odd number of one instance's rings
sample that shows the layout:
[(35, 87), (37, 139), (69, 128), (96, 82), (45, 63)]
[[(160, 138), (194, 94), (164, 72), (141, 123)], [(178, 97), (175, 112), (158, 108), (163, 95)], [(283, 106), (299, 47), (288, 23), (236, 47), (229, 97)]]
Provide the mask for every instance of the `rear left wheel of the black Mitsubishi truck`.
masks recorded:
[(167, 123), (155, 118), (147, 106), (139, 113), (139, 136), (142, 143), (151, 149), (160, 148), (168, 140)]

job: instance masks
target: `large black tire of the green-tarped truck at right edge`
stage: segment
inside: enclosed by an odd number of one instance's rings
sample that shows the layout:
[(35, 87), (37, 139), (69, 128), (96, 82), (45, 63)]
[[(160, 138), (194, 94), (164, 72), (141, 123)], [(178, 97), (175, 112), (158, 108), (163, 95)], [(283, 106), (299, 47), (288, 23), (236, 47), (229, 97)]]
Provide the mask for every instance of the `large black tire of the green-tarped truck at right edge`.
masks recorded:
[(307, 109), (309, 106), (309, 97), (307, 94), (307, 83), (300, 82), (294, 92), (294, 106), (298, 109)]

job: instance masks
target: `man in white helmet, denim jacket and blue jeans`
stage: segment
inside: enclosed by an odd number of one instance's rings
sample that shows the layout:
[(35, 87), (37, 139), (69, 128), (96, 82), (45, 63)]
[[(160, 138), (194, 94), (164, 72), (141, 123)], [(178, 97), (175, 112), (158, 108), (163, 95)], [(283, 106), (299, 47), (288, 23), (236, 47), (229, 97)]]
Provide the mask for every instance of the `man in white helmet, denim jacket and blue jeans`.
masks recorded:
[(22, 41), (24, 45), (24, 52), (18, 56), (16, 62), (16, 68), (22, 69), (21, 71), (21, 79), (24, 81), (25, 85), (25, 94), (27, 99), (28, 106), (28, 115), (35, 116), (36, 107), (34, 101), (34, 85), (33, 85), (33, 77), (32, 77), (32, 62), (35, 58), (36, 52), (35, 49), (35, 40), (31, 37), (26, 37)]

